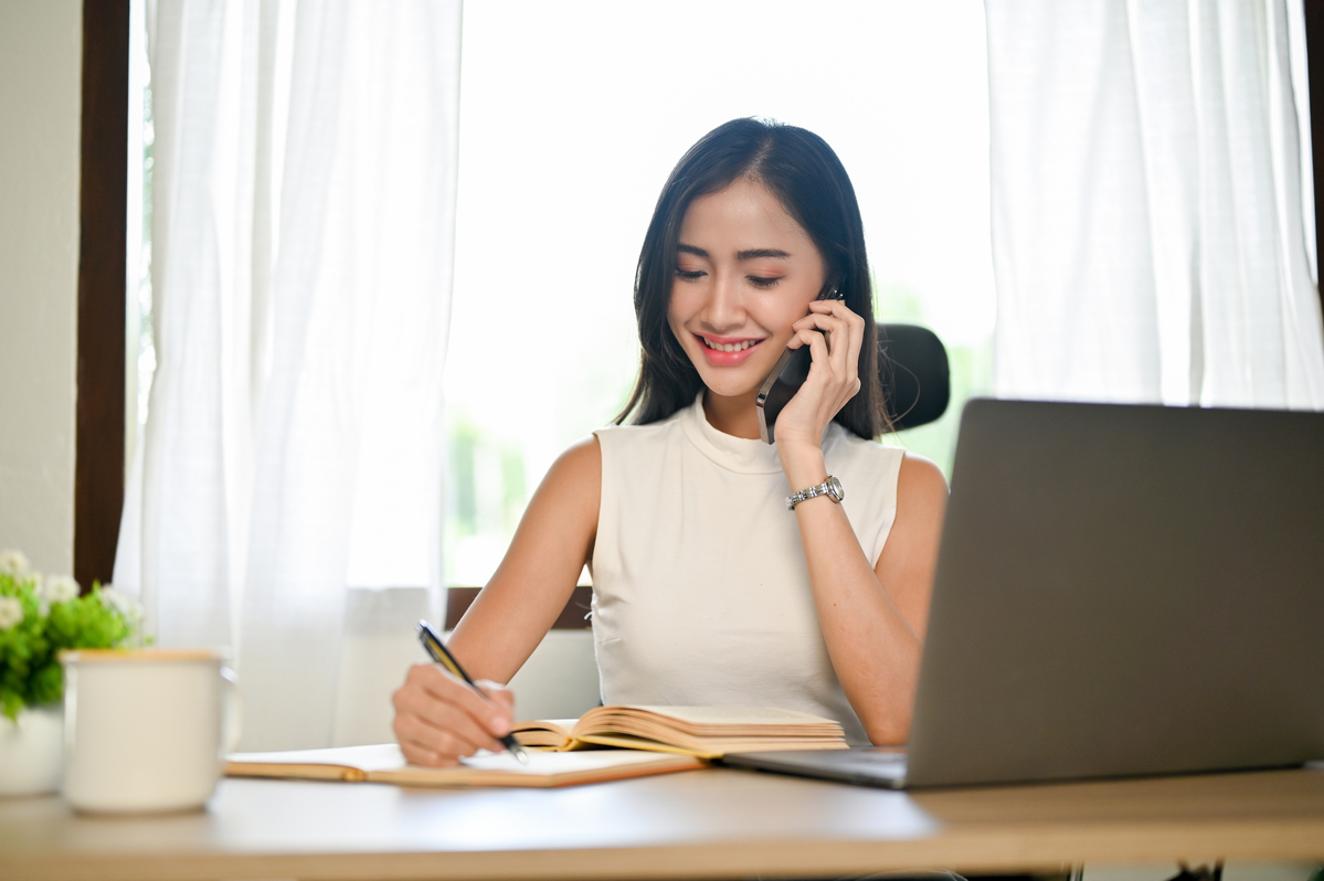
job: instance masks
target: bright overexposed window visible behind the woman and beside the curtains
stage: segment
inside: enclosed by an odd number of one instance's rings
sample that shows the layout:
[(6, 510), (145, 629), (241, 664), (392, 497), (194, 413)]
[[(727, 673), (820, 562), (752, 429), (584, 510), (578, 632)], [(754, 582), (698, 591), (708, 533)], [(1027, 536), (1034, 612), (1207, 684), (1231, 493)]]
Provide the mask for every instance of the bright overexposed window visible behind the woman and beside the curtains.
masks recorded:
[[(132, 11), (130, 459), (155, 368), (151, 85)], [(463, 28), (446, 583), (487, 581), (556, 455), (624, 405), (653, 204), (685, 149), (736, 116), (804, 126), (842, 157), (878, 317), (931, 327), (952, 361), (948, 414), (887, 442), (949, 470), (960, 406), (990, 381), (980, 4), (493, 0), (469, 4)]]

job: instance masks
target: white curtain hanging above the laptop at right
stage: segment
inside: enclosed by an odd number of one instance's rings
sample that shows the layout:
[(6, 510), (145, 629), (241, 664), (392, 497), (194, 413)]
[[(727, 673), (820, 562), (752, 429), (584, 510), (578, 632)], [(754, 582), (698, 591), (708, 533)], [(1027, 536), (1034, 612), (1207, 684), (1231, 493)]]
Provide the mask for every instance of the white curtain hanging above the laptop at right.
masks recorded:
[(1324, 407), (1299, 0), (986, 15), (996, 393)]

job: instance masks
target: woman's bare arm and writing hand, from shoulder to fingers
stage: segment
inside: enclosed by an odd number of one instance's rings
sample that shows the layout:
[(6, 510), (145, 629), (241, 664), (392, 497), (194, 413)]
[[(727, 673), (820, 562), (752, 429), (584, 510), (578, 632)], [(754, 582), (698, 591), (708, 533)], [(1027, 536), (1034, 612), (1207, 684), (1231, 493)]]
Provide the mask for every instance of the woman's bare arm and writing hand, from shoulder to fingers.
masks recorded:
[(485, 694), (438, 664), (416, 664), (396, 691), (396, 739), (410, 762), (454, 765), (479, 749), (503, 749), (495, 738), (514, 724), (514, 696), (499, 683), (542, 642), (593, 552), (601, 471), (597, 438), (552, 464), (500, 566), (455, 627), (449, 648)]

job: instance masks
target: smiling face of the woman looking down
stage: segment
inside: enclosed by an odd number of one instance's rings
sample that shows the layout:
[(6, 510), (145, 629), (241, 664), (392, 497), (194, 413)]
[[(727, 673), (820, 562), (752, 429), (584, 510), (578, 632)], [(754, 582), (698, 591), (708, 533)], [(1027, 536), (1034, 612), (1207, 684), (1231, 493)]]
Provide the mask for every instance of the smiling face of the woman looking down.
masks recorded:
[(755, 394), (822, 286), (809, 234), (763, 184), (741, 177), (690, 202), (667, 320), (712, 393)]

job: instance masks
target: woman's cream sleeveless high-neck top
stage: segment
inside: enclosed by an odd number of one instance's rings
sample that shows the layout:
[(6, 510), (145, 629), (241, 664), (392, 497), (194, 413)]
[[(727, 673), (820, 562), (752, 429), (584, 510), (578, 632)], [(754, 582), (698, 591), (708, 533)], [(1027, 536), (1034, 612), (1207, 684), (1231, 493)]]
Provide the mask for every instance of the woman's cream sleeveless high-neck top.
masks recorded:
[[(663, 422), (594, 434), (602, 702), (780, 706), (837, 720), (851, 743), (867, 743), (828, 657), (776, 447), (714, 429), (702, 394)], [(822, 448), (873, 566), (904, 451), (835, 422)]]

